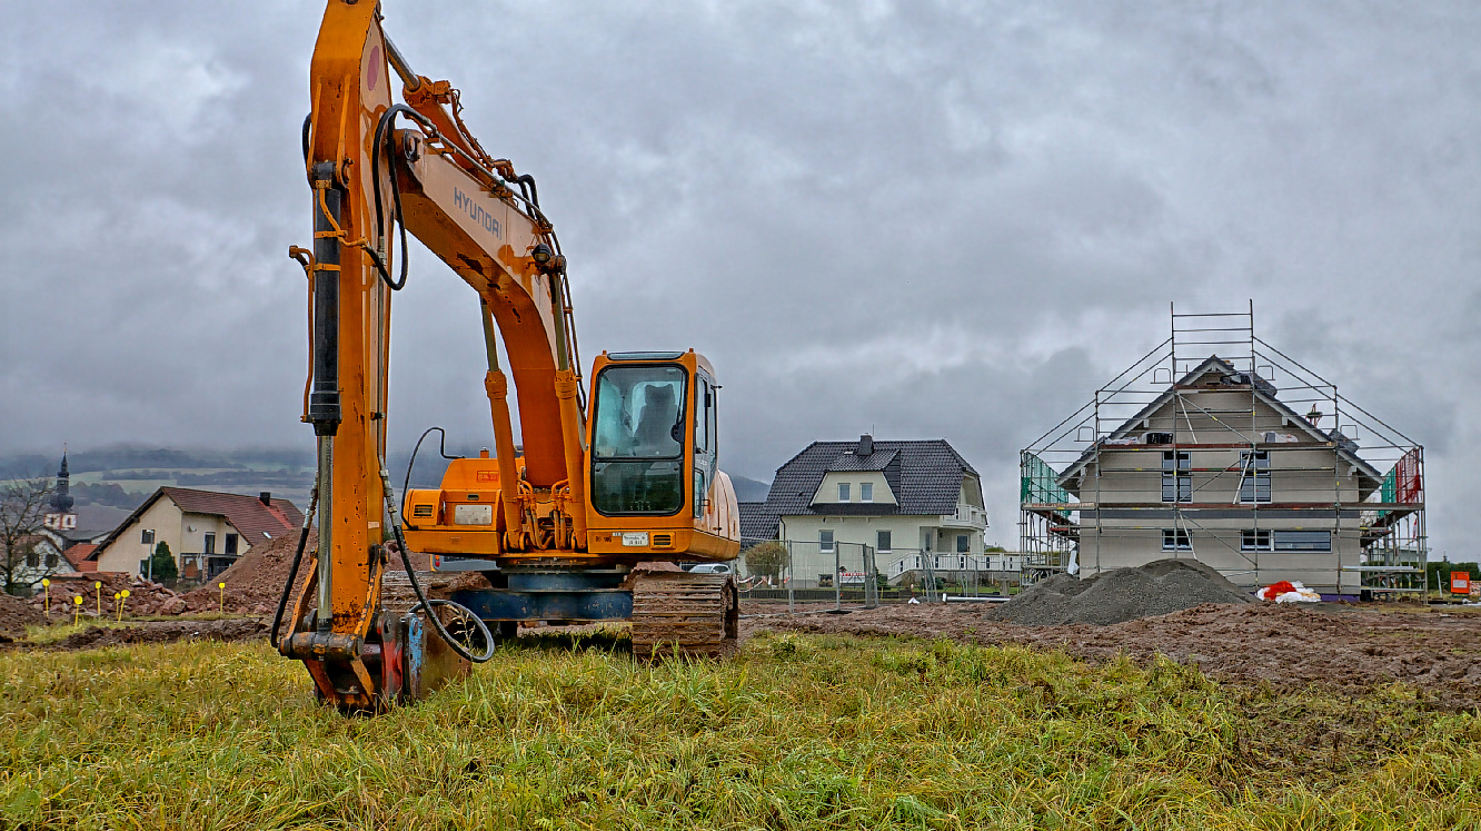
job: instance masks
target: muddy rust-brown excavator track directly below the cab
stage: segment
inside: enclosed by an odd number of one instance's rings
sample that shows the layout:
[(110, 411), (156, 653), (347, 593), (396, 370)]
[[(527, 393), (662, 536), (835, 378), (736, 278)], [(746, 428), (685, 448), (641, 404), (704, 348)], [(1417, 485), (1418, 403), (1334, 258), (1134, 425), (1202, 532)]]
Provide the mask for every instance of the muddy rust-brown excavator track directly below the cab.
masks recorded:
[(727, 658), (739, 646), (740, 600), (732, 575), (652, 572), (632, 582), (632, 655)]

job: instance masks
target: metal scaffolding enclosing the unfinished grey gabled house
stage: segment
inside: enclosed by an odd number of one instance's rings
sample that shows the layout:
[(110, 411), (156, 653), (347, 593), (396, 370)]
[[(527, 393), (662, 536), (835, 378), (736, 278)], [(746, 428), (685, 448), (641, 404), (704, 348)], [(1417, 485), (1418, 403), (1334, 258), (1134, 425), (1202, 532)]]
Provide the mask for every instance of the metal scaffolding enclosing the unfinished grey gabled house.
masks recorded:
[(1423, 447), (1260, 339), (1253, 302), (1169, 320), (1020, 452), (1023, 584), (1192, 557), (1251, 588), (1425, 595)]

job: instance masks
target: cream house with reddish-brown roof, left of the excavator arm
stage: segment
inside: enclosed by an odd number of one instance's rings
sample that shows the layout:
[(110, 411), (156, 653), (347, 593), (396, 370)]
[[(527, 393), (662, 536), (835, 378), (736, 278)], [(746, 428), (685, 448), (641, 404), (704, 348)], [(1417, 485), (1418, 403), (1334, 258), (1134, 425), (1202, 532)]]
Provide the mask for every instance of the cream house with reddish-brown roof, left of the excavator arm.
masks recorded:
[(271, 493), (160, 487), (87, 560), (99, 572), (145, 575), (150, 553), (166, 542), (182, 579), (207, 581), (255, 545), (293, 533), (302, 523), (304, 514), (292, 502)]

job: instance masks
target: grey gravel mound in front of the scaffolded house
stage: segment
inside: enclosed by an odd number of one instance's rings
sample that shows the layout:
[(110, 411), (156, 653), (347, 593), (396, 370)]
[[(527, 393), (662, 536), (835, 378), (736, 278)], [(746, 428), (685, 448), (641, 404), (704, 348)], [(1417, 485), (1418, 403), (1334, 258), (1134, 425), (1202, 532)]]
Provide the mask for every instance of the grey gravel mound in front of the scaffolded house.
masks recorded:
[(1090, 579), (1054, 575), (989, 612), (994, 621), (1028, 627), (1093, 624), (1108, 627), (1169, 615), (1204, 603), (1256, 603), (1219, 572), (1197, 560), (1155, 560)]

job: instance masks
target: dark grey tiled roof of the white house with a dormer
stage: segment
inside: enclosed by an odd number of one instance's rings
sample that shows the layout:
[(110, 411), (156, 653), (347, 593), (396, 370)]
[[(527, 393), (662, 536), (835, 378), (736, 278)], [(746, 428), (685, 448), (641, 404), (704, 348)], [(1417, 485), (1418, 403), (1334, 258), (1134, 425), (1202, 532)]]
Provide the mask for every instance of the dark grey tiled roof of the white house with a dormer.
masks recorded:
[[(957, 510), (961, 480), (977, 475), (943, 438), (927, 441), (874, 441), (874, 453), (857, 456), (857, 441), (813, 441), (776, 470), (772, 492), (760, 511), (772, 517), (797, 515), (943, 515)], [(813, 510), (813, 495), (835, 471), (880, 471), (895, 492), (896, 505), (880, 502), (829, 504)], [(742, 533), (745, 508), (742, 508)], [(757, 520), (760, 523), (760, 520)], [(761, 527), (760, 524), (757, 527)], [(775, 529), (775, 526), (773, 526)]]

